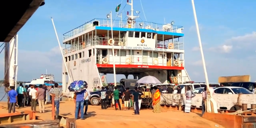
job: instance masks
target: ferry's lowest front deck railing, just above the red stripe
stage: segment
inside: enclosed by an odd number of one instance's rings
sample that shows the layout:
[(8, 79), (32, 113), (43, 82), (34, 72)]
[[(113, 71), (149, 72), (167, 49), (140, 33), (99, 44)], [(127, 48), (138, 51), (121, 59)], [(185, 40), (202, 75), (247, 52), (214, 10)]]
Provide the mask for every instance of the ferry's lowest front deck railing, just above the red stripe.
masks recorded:
[[(119, 52), (117, 52), (117, 55)], [(125, 65), (158, 65), (158, 66), (173, 66), (173, 67), (183, 67), (184, 60), (177, 59), (165, 59), (165, 58), (151, 58), (142, 56), (115, 56), (115, 64), (125, 64)], [(97, 64), (114, 64), (112, 56), (98, 56), (96, 60)]]

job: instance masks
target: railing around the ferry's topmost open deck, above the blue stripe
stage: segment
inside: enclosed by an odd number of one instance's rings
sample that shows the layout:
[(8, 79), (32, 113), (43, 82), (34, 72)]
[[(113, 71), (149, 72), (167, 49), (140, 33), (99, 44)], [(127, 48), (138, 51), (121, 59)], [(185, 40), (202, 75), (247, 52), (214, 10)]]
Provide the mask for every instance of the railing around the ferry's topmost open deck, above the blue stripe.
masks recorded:
[[(96, 22), (95, 22), (96, 21)], [(131, 28), (131, 23), (128, 23), (128, 20), (112, 20), (113, 28)], [(98, 23), (97, 23), (98, 22)], [(95, 25), (100, 27), (111, 27), (110, 19), (101, 19), (96, 18), (87, 23), (80, 25), (79, 27), (63, 34), (63, 40), (73, 37), (77, 34), (80, 34)], [(154, 31), (163, 31), (163, 32), (172, 32), (172, 33), (182, 33), (183, 27), (177, 25), (171, 25), (170, 23), (161, 24), (154, 22), (146, 22), (146, 21), (134, 21), (133, 28), (135, 29), (148, 29)]]

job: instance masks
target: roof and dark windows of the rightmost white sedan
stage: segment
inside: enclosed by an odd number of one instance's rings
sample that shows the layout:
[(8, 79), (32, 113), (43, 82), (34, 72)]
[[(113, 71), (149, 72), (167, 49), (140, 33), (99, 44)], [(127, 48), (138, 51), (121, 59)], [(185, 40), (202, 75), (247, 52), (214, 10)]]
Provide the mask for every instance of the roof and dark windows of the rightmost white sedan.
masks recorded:
[(248, 89), (243, 87), (219, 87), (214, 90), (216, 94), (252, 94)]

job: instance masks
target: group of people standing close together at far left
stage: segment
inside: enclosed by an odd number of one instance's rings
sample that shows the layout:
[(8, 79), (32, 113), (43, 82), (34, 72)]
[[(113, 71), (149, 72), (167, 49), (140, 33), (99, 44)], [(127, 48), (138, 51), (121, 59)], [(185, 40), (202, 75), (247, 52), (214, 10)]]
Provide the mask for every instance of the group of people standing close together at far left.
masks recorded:
[[(15, 108), (25, 108), (31, 107), (32, 111), (36, 111), (36, 106), (39, 105), (39, 112), (45, 113), (45, 104), (47, 93), (55, 94), (54, 103), (56, 106), (56, 112), (58, 114), (59, 109), (59, 97), (62, 95), (62, 92), (58, 89), (58, 84), (55, 83), (51, 88), (47, 88), (46, 85), (25, 85), (22, 83), (19, 84), (15, 91), (15, 86), (9, 86), (6, 89), (8, 93), (8, 113), (15, 112)], [(51, 99), (50, 99), (51, 100)]]

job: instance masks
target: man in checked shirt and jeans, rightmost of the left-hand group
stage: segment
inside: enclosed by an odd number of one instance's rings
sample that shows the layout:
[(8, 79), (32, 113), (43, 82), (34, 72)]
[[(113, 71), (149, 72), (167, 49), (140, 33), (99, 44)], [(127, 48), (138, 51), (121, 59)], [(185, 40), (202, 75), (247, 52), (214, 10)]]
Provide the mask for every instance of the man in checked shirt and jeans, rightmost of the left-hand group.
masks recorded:
[(54, 84), (54, 88), (50, 90), (50, 95), (52, 96), (52, 94), (55, 94), (54, 97), (54, 104), (56, 106), (56, 112), (55, 112), (55, 116), (59, 115), (59, 97), (63, 94), (59, 89), (58, 89), (58, 83)]

